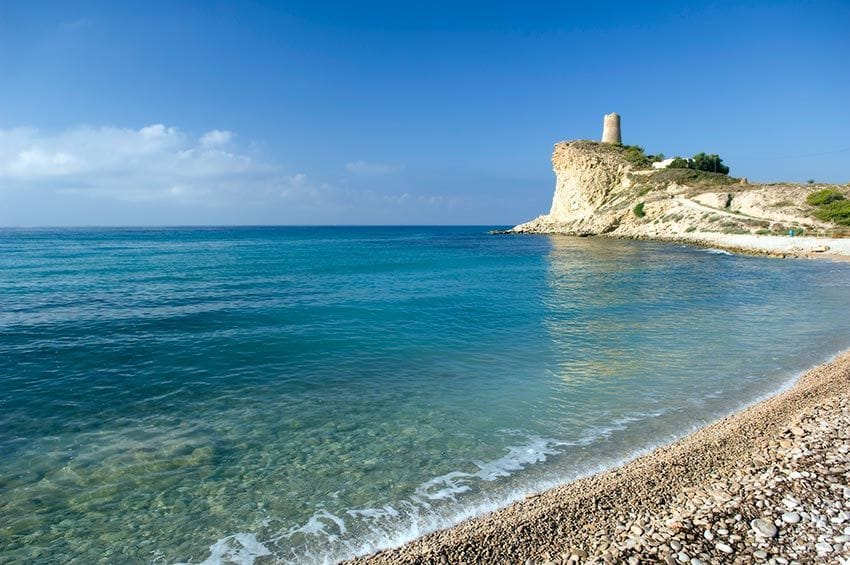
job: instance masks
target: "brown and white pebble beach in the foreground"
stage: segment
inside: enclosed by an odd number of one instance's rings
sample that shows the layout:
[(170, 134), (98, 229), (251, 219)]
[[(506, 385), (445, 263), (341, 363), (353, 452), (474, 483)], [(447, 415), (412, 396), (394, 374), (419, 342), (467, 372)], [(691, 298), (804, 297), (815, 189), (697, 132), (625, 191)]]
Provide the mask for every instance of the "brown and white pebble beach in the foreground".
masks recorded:
[(351, 563), (840, 562), (848, 436), (850, 350), (621, 467)]

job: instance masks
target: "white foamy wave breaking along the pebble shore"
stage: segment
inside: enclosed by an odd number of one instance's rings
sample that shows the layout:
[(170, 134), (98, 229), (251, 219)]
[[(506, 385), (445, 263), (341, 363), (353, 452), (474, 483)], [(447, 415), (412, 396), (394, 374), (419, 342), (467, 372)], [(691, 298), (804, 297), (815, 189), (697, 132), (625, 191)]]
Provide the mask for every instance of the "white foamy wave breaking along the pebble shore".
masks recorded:
[[(503, 508), (528, 494), (562, 484), (565, 480), (586, 476), (633, 458), (634, 455), (628, 455), (613, 463), (608, 462), (588, 469), (576, 469), (567, 478), (529, 483), (512, 488), (496, 498), (486, 497), (484, 500), (475, 500), (471, 503), (459, 500), (461, 495), (473, 489), (475, 482), (493, 482), (512, 477), (532, 465), (546, 462), (551, 456), (562, 454), (564, 447), (590, 446), (594, 442), (610, 437), (613, 432), (627, 430), (631, 423), (657, 418), (662, 413), (663, 411), (629, 414), (617, 418), (610, 426), (591, 429), (576, 441), (529, 437), (527, 443), (509, 447), (503, 457), (492, 461), (474, 462), (478, 467), (477, 472), (452, 471), (422, 483), (416, 488), (414, 495), (396, 505), (348, 509), (342, 513), (345, 516), (320, 509), (305, 524), (292, 526), (278, 535), (271, 535), (263, 543), (257, 541), (255, 533), (240, 532), (228, 535), (210, 546), (210, 554), (202, 564), (251, 565), (256, 558), (272, 554), (284, 563), (330, 564), (396, 547), (469, 518)], [(657, 445), (660, 444), (653, 444), (649, 449)], [(641, 453), (645, 451), (642, 450)], [(449, 507), (435, 506), (442, 501), (459, 504)], [(350, 537), (348, 536), (350, 530), (360, 532), (360, 535)], [(286, 542), (297, 534), (306, 536), (307, 543), (302, 543), (300, 547), (287, 547)], [(269, 549), (270, 547), (280, 549), (273, 551)]]

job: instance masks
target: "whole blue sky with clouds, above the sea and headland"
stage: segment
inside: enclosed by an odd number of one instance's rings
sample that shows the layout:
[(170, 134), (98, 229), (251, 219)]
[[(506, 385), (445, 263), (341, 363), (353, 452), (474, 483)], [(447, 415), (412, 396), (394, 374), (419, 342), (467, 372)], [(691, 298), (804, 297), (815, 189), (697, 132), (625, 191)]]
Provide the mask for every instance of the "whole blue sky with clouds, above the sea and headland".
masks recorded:
[(850, 2), (0, 0), (0, 226), (484, 224), (554, 143), (850, 182)]

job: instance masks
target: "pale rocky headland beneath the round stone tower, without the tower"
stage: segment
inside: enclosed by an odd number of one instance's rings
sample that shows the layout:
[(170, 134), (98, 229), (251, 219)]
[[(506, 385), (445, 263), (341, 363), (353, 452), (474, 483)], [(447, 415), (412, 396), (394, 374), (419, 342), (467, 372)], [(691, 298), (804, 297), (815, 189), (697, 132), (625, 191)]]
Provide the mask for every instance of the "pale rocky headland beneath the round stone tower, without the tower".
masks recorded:
[[(850, 186), (750, 184), (725, 174), (635, 165), (626, 148), (565, 141), (552, 154), (548, 214), (506, 233), (652, 239), (777, 256), (850, 256), (850, 230), (813, 217), (806, 197)], [(794, 236), (789, 236), (790, 233)]]

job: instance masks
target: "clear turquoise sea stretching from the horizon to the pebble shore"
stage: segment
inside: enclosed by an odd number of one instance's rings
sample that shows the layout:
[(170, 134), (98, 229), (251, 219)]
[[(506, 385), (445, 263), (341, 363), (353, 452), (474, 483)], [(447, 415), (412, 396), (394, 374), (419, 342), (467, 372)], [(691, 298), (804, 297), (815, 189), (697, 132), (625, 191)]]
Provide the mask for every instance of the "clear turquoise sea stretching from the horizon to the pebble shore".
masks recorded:
[(0, 561), (324, 562), (850, 346), (850, 265), (486, 228), (0, 231)]

